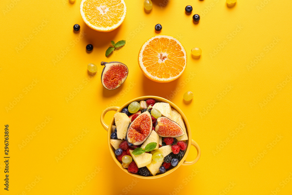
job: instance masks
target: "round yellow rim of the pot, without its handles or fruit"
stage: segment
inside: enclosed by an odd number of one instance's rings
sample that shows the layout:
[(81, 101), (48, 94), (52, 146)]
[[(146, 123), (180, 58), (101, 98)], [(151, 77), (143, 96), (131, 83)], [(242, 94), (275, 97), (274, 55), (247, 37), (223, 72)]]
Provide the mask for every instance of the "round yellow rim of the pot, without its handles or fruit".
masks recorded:
[(112, 158), (114, 159), (114, 161), (117, 163), (117, 165), (123, 169), (125, 172), (127, 172), (128, 174), (130, 175), (133, 175), (135, 177), (138, 177), (138, 178), (143, 178), (143, 179), (154, 179), (154, 178), (159, 178), (159, 177), (163, 177), (165, 175), (168, 175), (170, 174), (171, 172), (175, 171), (184, 161), (185, 161), (185, 158), (187, 157), (187, 154), (189, 153), (189, 150), (190, 150), (190, 147), (191, 147), (191, 131), (190, 131), (190, 124), (189, 122), (187, 121), (187, 118), (185, 117), (184, 113), (180, 110), (180, 108), (178, 108), (178, 106), (176, 106), (174, 103), (172, 103), (171, 101), (167, 100), (167, 99), (164, 99), (164, 98), (161, 98), (161, 97), (158, 97), (158, 96), (142, 96), (142, 97), (138, 97), (138, 98), (135, 98), (135, 99), (132, 99), (131, 101), (128, 101), (127, 103), (125, 103), (123, 106), (121, 106), (117, 112), (121, 112), (123, 108), (127, 108), (128, 105), (130, 103), (132, 103), (133, 101), (142, 101), (142, 100), (146, 100), (146, 99), (149, 99), (149, 98), (153, 98), (156, 100), (156, 102), (166, 102), (166, 103), (169, 103), (171, 105), (171, 107), (173, 107), (176, 111), (178, 111), (178, 113), (180, 113), (180, 115), (182, 116), (183, 120), (184, 120), (184, 123), (185, 123), (185, 128), (186, 128), (186, 133), (187, 133), (187, 136), (188, 136), (188, 140), (187, 141), (187, 149), (185, 151), (185, 155), (183, 156), (183, 158), (179, 161), (178, 165), (167, 170), (165, 173), (163, 174), (158, 174), (158, 175), (155, 175), (155, 176), (141, 176), (141, 175), (136, 175), (136, 174), (133, 174), (131, 172), (128, 172), (127, 169), (125, 169), (121, 163), (117, 160), (116, 158), (116, 155), (115, 155), (115, 149), (112, 147), (112, 145), (110, 144), (109, 140), (110, 140), (110, 134), (112, 133), (112, 125), (114, 124), (114, 117), (112, 117), (112, 120), (110, 121), (109, 123), (109, 128), (108, 128), (108, 132), (107, 132), (107, 140), (108, 140), (108, 146), (109, 146), (109, 151), (112, 155)]

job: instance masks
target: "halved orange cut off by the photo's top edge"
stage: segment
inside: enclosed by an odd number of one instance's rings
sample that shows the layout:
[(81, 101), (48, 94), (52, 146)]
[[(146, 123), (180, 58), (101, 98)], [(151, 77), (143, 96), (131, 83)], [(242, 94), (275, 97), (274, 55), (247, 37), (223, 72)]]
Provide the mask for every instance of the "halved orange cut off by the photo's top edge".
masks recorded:
[(80, 13), (84, 22), (94, 30), (109, 32), (121, 25), (126, 17), (124, 0), (82, 0)]

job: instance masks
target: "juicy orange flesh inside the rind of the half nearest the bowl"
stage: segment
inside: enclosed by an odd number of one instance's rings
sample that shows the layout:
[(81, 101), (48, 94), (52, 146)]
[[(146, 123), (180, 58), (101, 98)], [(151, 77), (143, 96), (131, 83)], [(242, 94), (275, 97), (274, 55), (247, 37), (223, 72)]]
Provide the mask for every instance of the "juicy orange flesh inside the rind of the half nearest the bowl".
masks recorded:
[(173, 39), (156, 38), (145, 46), (142, 62), (148, 73), (158, 78), (179, 75), (185, 66), (185, 54)]

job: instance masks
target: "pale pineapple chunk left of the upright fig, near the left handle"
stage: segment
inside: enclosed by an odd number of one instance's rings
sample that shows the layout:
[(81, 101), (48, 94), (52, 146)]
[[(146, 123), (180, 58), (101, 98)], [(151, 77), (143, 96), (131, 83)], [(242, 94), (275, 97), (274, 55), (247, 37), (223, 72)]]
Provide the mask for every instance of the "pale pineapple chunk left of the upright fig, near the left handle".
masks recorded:
[(125, 139), (130, 124), (130, 118), (125, 113), (118, 112), (114, 114), (114, 122), (117, 126), (118, 139)]

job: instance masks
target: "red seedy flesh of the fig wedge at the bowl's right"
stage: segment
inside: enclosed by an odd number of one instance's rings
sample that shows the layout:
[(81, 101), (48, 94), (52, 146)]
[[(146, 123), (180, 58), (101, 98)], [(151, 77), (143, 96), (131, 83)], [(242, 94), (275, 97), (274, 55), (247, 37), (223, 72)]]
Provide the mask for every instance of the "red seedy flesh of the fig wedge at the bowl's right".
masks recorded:
[(161, 118), (157, 125), (159, 125), (159, 129), (156, 132), (160, 136), (178, 137), (183, 134), (183, 131), (175, 123), (166, 118)]

